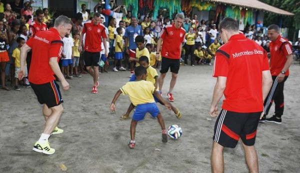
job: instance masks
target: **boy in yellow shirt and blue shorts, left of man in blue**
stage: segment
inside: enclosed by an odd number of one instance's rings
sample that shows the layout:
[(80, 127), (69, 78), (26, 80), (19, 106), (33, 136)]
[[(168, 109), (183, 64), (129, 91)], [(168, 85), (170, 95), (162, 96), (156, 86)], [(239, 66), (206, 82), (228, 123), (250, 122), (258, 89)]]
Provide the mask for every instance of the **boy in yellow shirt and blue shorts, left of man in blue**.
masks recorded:
[(115, 36), (115, 47), (114, 47), (114, 60), (113, 60), (113, 71), (118, 71), (116, 69), (116, 63), (119, 64), (119, 70), (126, 70), (122, 66), (122, 59), (123, 59), (123, 37), (122, 37), (122, 28), (116, 28), (117, 35)]

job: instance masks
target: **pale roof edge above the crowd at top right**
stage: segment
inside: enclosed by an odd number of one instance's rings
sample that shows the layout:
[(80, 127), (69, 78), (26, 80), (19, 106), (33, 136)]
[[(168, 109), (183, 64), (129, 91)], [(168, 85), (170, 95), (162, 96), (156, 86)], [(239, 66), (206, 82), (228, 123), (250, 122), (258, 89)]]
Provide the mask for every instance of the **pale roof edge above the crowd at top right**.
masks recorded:
[(259, 0), (208, 0), (208, 1), (265, 10), (265, 11), (269, 11), (281, 15), (294, 15), (291, 12), (268, 5)]

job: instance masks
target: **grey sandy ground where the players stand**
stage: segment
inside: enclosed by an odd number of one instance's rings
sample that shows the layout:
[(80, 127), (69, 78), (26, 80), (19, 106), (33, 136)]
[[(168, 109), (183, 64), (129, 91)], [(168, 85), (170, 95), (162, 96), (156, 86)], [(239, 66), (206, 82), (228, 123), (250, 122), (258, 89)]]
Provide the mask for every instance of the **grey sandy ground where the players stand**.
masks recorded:
[[(300, 168), (300, 65), (294, 63), (290, 69), (282, 124), (258, 126), (255, 146), (260, 172), (298, 172)], [(64, 111), (59, 123), (64, 133), (49, 138), (56, 149), (52, 155), (32, 151), (43, 128), (41, 105), (32, 89), (0, 90), (0, 172), (61, 172), (61, 163), (67, 172), (210, 172), (216, 119), (206, 119), (215, 83), (211, 70), (208, 65), (180, 67), (173, 105), (181, 110), (181, 119), (159, 105), (166, 126), (179, 124), (182, 136), (162, 143), (157, 120), (146, 115), (137, 125), (134, 149), (127, 145), (130, 120), (119, 120), (129, 98), (120, 96), (116, 112), (109, 111), (114, 93), (129, 79), (128, 71), (100, 74), (97, 94), (91, 93), (88, 74), (68, 80), (70, 89), (62, 92)], [(169, 80), (170, 73), (164, 97)], [(247, 172), (241, 144), (225, 149), (224, 159), (225, 172)]]

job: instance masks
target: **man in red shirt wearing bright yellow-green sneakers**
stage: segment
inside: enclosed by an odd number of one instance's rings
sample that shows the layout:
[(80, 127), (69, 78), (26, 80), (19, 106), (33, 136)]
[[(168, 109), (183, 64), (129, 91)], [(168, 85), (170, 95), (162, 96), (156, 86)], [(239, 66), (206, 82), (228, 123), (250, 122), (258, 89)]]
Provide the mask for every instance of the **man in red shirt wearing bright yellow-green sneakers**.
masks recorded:
[(61, 38), (66, 33), (70, 33), (71, 27), (72, 21), (68, 17), (60, 15), (55, 19), (53, 28), (37, 32), (21, 47), (21, 68), (18, 78), (24, 77), (27, 51), (32, 49), (32, 62), (28, 79), (38, 102), (43, 104), (42, 113), (45, 126), (40, 138), (32, 148), (36, 152), (53, 154), (55, 149), (50, 147), (48, 138), (51, 134), (63, 132), (56, 126), (63, 110), (61, 105), (63, 100), (54, 74), (60, 79), (63, 90), (67, 90), (69, 84), (60, 71), (58, 60), (63, 47)]

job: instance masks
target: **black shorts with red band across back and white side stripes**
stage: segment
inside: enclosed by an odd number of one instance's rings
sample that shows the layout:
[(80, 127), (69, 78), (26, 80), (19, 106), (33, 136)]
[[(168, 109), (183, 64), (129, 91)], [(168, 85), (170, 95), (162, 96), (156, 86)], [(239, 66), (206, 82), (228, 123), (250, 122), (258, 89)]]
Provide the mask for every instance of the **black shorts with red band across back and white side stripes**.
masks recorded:
[(214, 125), (213, 140), (224, 147), (234, 148), (240, 137), (245, 145), (254, 145), (260, 114), (222, 109)]

